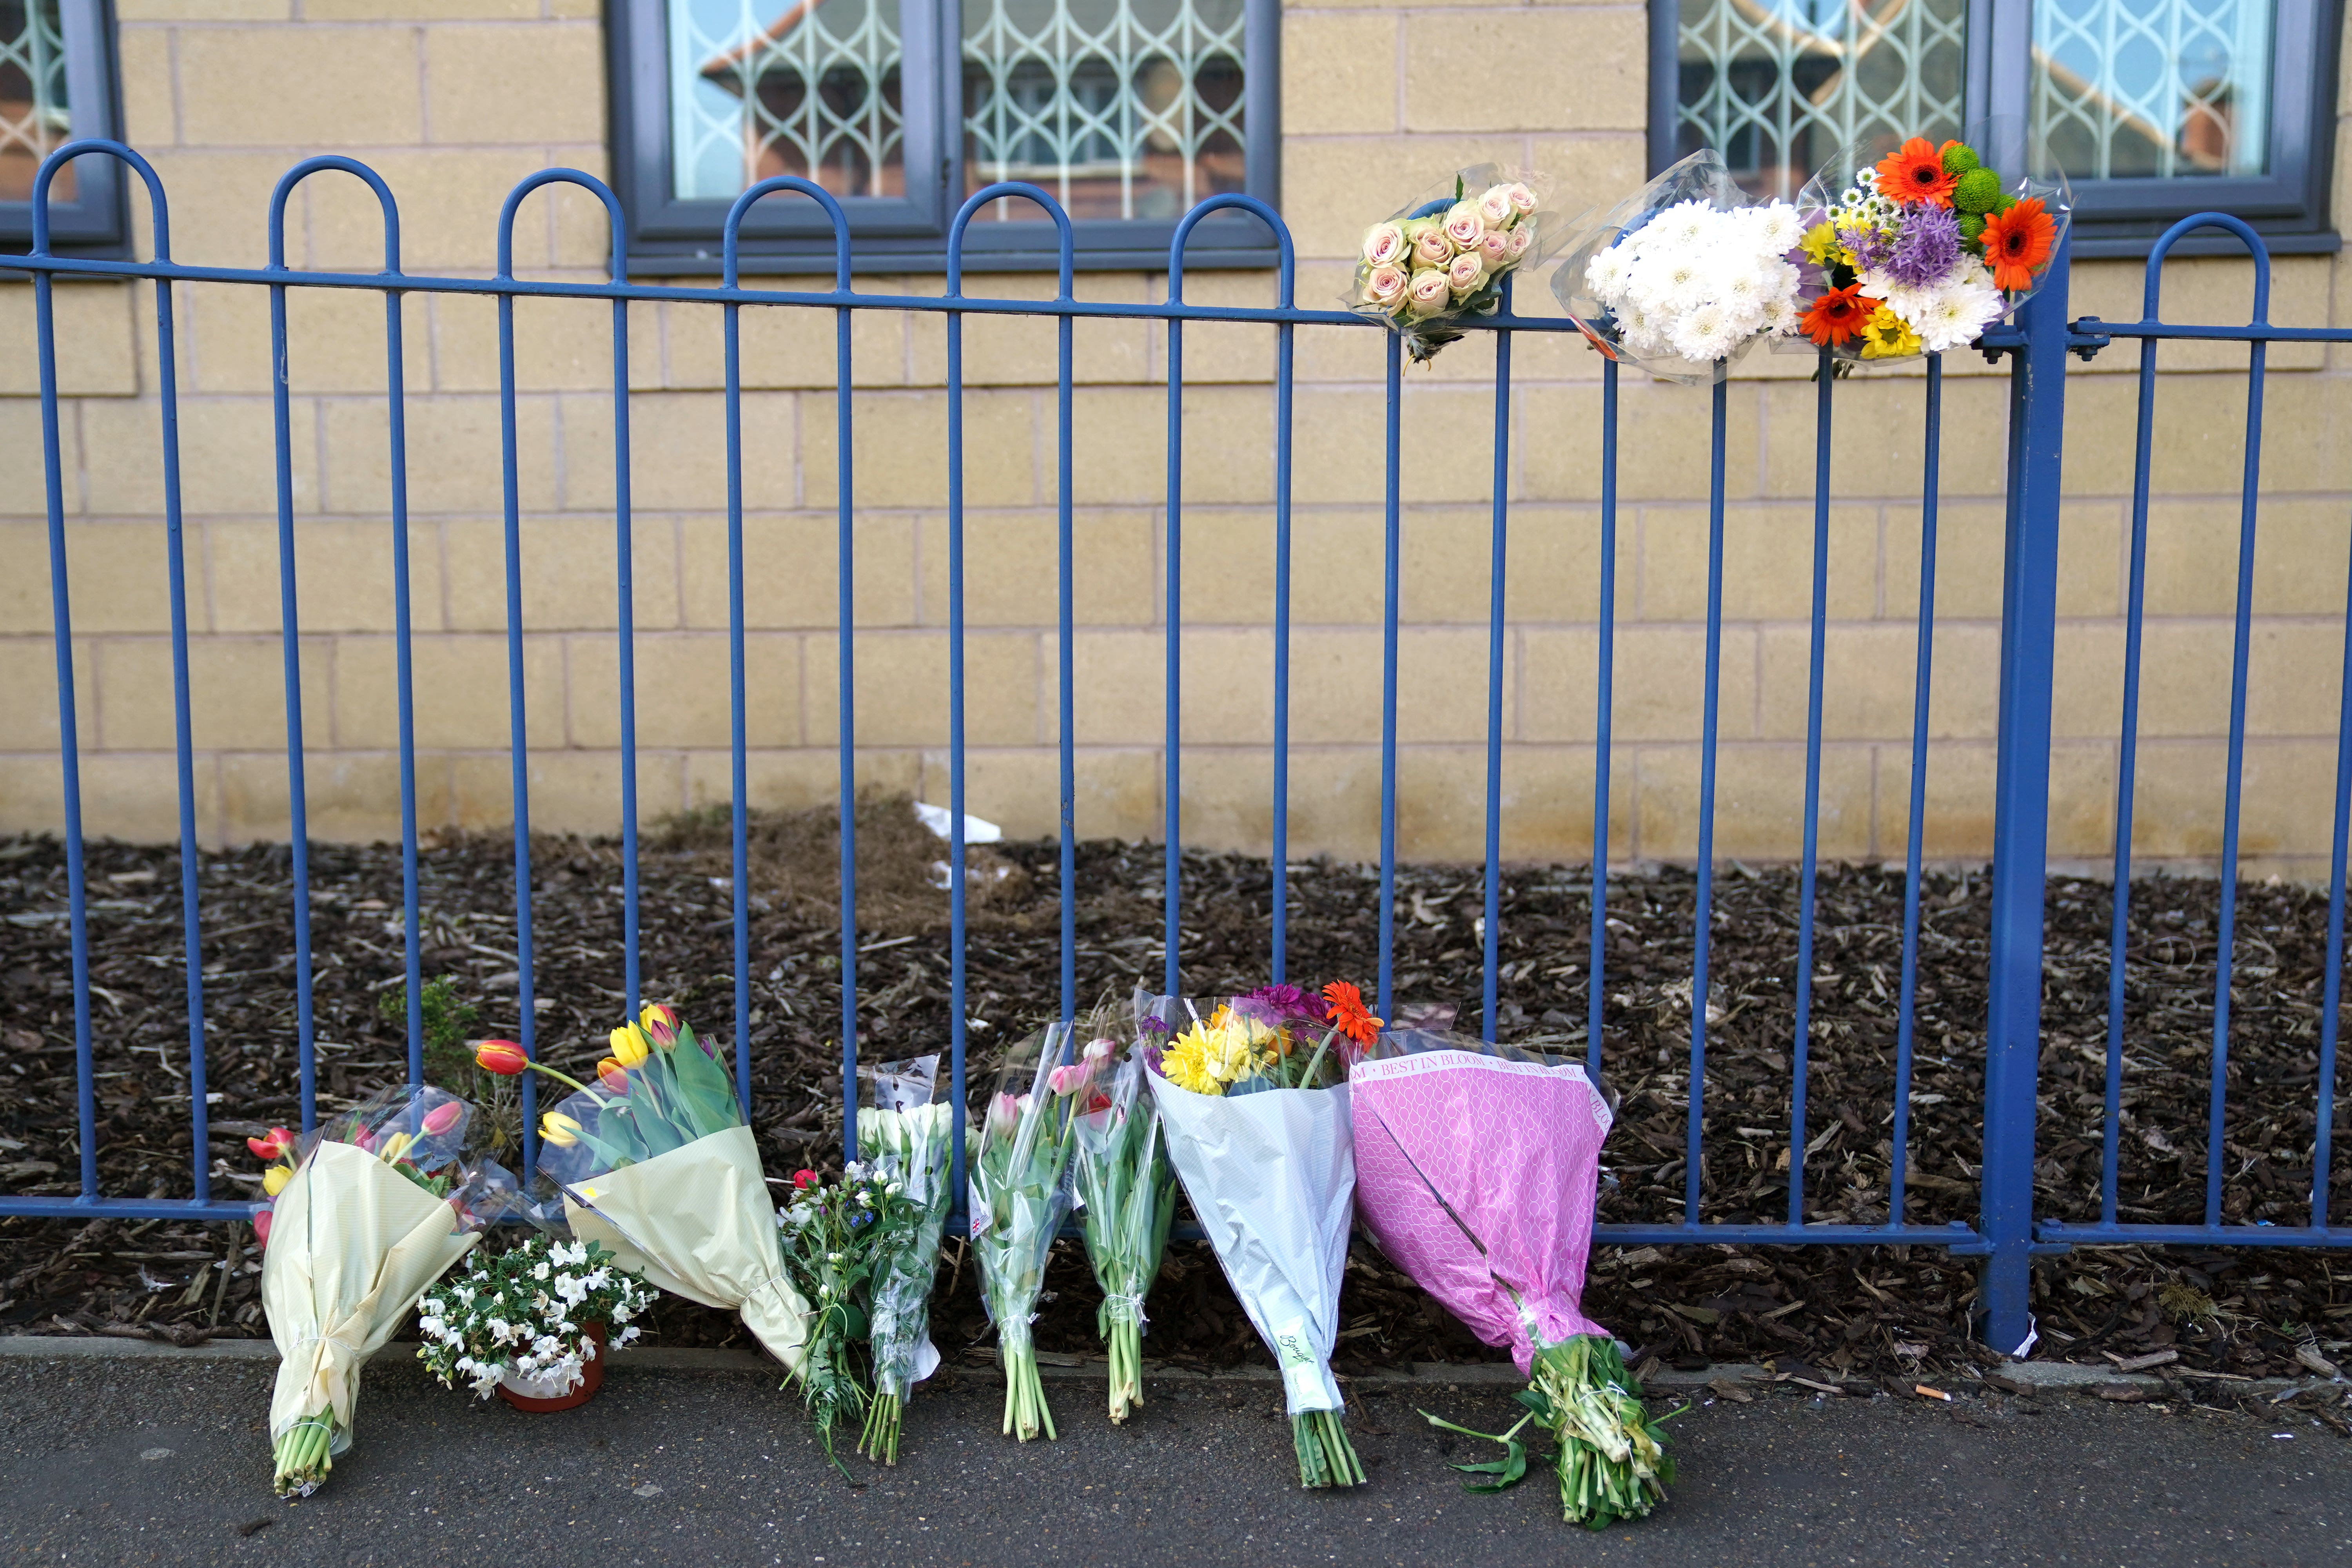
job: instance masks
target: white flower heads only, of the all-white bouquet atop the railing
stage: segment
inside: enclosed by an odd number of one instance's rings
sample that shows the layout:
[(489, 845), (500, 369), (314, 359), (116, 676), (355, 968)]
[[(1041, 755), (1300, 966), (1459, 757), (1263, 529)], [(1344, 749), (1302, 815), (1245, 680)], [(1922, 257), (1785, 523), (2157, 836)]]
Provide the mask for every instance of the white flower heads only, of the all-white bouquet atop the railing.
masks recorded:
[(1616, 315), (1632, 357), (1708, 367), (1797, 327), (1802, 273), (1788, 254), (1802, 237), (1788, 202), (1726, 209), (1691, 197), (1595, 252), (1583, 284)]

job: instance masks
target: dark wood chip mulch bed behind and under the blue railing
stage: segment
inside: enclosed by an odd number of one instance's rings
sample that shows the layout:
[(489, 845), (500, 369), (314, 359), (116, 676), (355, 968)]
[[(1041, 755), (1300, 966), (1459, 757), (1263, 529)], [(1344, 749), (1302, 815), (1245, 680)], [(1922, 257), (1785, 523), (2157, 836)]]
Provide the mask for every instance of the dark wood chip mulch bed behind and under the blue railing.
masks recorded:
[[(946, 1046), (946, 846), (903, 799), (858, 809), (858, 1030), (870, 1060)], [(753, 823), (755, 1133), (771, 1171), (837, 1161), (840, 914), (830, 811)], [(534, 844), (536, 1023), (553, 1060), (593, 1063), (621, 1009), (621, 849), (616, 839)], [(642, 985), (696, 1027), (734, 1032), (731, 879), (724, 818), (644, 835)], [(108, 1194), (188, 1197), (188, 1011), (179, 856), (172, 846), (92, 844), (92, 1006), (99, 1171)], [(1077, 851), (1080, 999), (1124, 994), (1162, 973), (1162, 851), (1089, 842)], [(296, 1121), (292, 865), (285, 846), (205, 853), (202, 980), (207, 1159), (216, 1194), (256, 1190), (245, 1138)], [(452, 837), (421, 856), (423, 969), (473, 1009), (470, 1034), (517, 1027), (513, 842)], [(1058, 851), (971, 851), (969, 1016), (974, 1091), (990, 1041), (1018, 1039), (1056, 1009)], [(1181, 961), (1195, 994), (1265, 980), (1270, 867), (1185, 853)], [(310, 851), (318, 1079), (325, 1105), (405, 1074), (407, 1032), (381, 1009), (402, 978), (397, 846)], [(1609, 879), (1604, 1065), (1621, 1095), (1602, 1220), (1682, 1213), (1691, 1032), (1693, 879), (1642, 867)], [(1583, 1051), (1590, 875), (1512, 867), (1503, 886), (1498, 1034)], [(2133, 886), (2126, 969), (2126, 1079), (2119, 1161), (2124, 1220), (2204, 1218), (2206, 1095), (2213, 1048), (2211, 879)], [(54, 839), (0, 839), (0, 1190), (78, 1190), (66, 870)], [(1402, 1004), (1479, 1018), (1475, 867), (1399, 867)], [(1703, 1218), (1788, 1215), (1790, 1039), (1795, 1030), (1797, 875), (1726, 865), (1715, 877)], [(1289, 867), (1289, 973), (1371, 990), (1378, 879), (1371, 867)], [(2046, 1218), (2096, 1220), (2107, 1037), (2110, 889), (2051, 879), (2044, 980), (2037, 1199)], [(1823, 867), (1816, 917), (1813, 1039), (1804, 1126), (1804, 1218), (1886, 1218), (1893, 1056), (1900, 994), (1900, 870)], [(1924, 886), (1912, 1133), (1905, 1218), (1976, 1211), (1980, 1157), (1987, 882), (1936, 870)], [(2317, 1110), (2326, 898), (2244, 884), (2223, 1126), (2223, 1218), (2303, 1225)], [(435, 1081), (466, 1091), (463, 1058)], [(510, 1112), (508, 1112), (510, 1114)], [(2345, 1145), (2343, 1119), (2336, 1126)], [(2338, 1159), (2331, 1211), (2352, 1211)], [(2176, 1371), (2310, 1375), (2352, 1338), (2352, 1260), (2300, 1248), (2079, 1248), (2037, 1260), (2037, 1356), (2112, 1366), (2176, 1352)], [(226, 1265), (226, 1267), (223, 1267)], [(936, 1307), (953, 1356), (985, 1335), (971, 1269), (948, 1248)], [(1684, 1366), (1771, 1359), (1828, 1385), (1907, 1392), (1936, 1368), (1990, 1359), (1969, 1340), (1976, 1272), (1938, 1248), (1599, 1248), (1585, 1309), (1623, 1340)], [(1096, 1352), (1098, 1293), (1063, 1244), (1037, 1321), (1047, 1352)], [(1181, 1363), (1263, 1361), (1207, 1248), (1178, 1244), (1152, 1300), (1148, 1354)], [(1343, 1293), (1341, 1371), (1399, 1361), (1494, 1359), (1409, 1279), (1359, 1244)], [(249, 1229), (165, 1222), (0, 1220), (0, 1333), (115, 1333), (195, 1342), (266, 1333)], [(666, 1302), (673, 1345), (741, 1342), (724, 1314)]]

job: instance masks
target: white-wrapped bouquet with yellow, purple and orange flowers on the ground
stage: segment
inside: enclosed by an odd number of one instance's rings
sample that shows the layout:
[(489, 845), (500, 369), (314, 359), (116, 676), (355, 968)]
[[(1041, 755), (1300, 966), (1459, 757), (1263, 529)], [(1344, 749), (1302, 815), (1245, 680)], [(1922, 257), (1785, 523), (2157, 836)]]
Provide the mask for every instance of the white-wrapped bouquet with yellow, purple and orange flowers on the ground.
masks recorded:
[(1200, 1016), (1157, 1060), (1169, 1159), (1242, 1309), (1282, 1368), (1301, 1486), (1359, 1486), (1331, 1347), (1355, 1213), (1348, 1072), (1381, 1020), (1345, 983), (1265, 985)]

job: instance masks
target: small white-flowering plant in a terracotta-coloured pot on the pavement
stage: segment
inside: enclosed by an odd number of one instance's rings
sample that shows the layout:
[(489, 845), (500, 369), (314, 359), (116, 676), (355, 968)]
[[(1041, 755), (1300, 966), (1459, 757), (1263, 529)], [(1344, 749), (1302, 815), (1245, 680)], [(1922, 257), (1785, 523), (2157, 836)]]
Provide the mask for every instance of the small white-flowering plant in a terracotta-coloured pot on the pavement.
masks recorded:
[(569, 1410), (604, 1385), (604, 1352), (637, 1338), (630, 1319), (654, 1288), (614, 1267), (595, 1241), (532, 1237), (496, 1258), (475, 1253), (416, 1305), (416, 1359), (445, 1387), (517, 1410)]

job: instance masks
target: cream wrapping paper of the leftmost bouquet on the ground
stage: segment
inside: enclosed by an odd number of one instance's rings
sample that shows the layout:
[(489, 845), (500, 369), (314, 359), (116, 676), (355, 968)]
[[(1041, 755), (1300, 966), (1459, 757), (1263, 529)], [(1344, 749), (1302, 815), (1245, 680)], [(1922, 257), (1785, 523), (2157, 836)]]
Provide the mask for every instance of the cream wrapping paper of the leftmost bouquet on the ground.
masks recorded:
[(334, 1410), (348, 1448), (360, 1368), (416, 1298), (480, 1241), (437, 1199), (348, 1143), (320, 1143), (278, 1194), (261, 1255), (261, 1307), (278, 1340), (270, 1441)]

